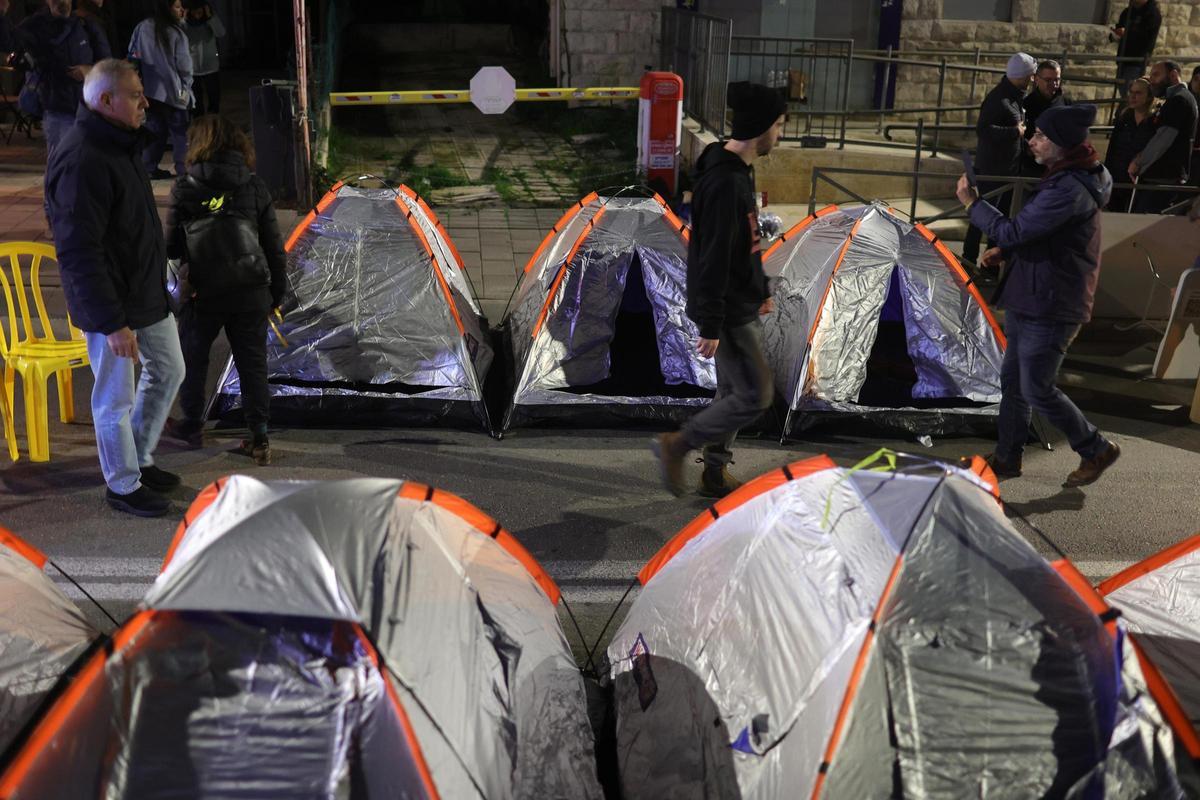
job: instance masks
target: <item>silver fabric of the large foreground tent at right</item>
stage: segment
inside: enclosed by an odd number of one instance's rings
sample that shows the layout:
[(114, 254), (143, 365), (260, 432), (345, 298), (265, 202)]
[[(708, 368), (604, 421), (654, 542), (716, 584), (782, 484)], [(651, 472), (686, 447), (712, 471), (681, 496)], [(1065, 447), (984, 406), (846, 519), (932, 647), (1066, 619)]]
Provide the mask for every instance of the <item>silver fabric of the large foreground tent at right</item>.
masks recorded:
[(722, 511), (643, 587), (608, 648), (622, 788), (1177, 796), (1127, 655), (973, 476), (826, 469)]

